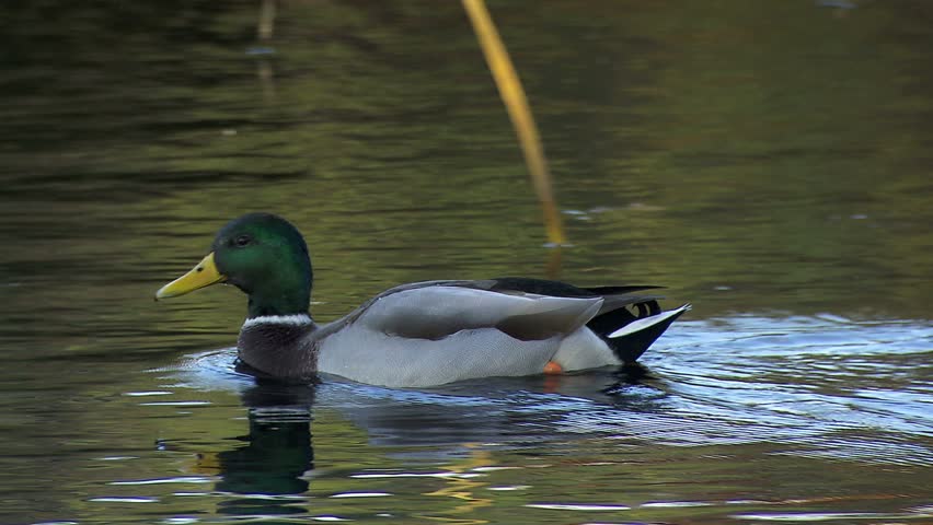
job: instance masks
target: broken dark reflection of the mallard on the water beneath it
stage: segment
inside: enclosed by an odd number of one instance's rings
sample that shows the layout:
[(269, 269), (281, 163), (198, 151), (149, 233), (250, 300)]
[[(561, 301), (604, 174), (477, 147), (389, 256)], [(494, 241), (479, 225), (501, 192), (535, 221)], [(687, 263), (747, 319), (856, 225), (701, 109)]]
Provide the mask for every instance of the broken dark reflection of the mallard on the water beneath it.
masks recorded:
[(215, 490), (224, 498), (218, 512), (238, 516), (309, 512), (315, 410), (333, 412), (365, 431), (369, 445), (388, 447), (387, 458), (447, 465), (449, 471), (439, 476), (444, 488), (429, 495), (454, 492), (460, 498), (475, 485), (470, 470), (489, 464), (483, 460), (485, 447), (472, 444), (527, 446), (557, 435), (591, 436), (591, 429), (575, 428), (571, 418), (604, 419), (620, 407), (649, 413), (663, 407), (665, 395), (658, 388), (663, 384), (637, 380), (627, 393), (598, 394), (595, 383), (619, 385), (620, 376), (608, 371), (488, 378), (423, 390), (336, 381), (289, 385), (237, 374), (233, 360), (231, 352), (205, 353), (185, 363), (176, 378), (198, 388), (237, 392), (247, 409), (249, 433), (227, 440), (229, 450), (200, 455), (196, 467), (219, 477)]

